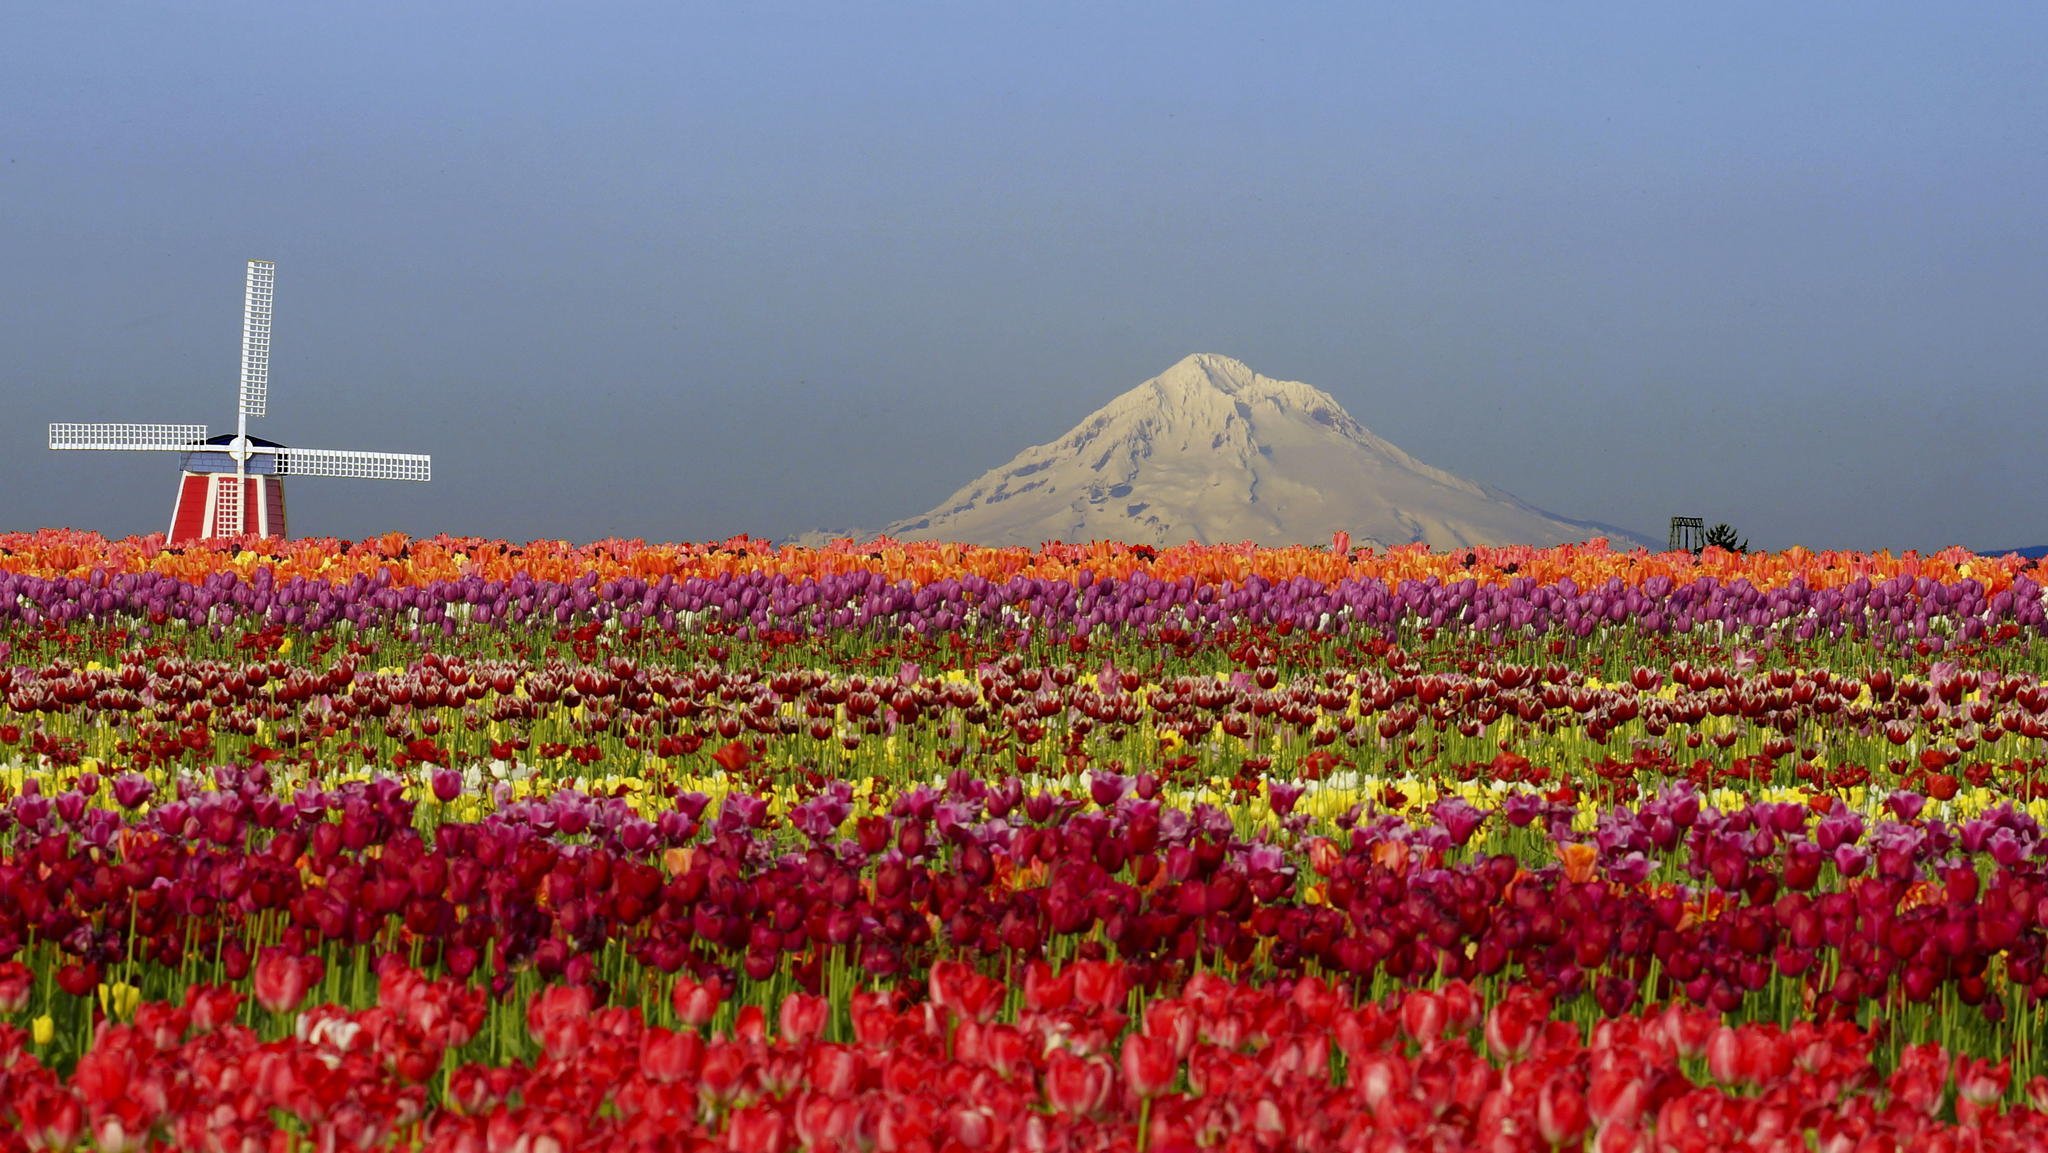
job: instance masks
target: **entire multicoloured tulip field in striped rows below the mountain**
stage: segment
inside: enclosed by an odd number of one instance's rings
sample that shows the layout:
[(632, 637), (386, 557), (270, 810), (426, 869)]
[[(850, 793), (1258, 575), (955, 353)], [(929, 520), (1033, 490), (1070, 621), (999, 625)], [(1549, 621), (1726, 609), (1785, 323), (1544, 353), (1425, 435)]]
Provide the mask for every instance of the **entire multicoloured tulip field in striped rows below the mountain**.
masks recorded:
[(2048, 1149), (2019, 557), (0, 535), (0, 1153)]

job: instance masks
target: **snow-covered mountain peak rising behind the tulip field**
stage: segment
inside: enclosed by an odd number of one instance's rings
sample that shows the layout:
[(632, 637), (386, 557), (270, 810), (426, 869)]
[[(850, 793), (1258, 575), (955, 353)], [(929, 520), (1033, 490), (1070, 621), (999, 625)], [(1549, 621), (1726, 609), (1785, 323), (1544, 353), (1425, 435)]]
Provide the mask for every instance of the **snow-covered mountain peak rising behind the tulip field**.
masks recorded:
[(1214, 354), (1188, 356), (885, 532), (971, 545), (1305, 545), (1337, 530), (1358, 545), (1432, 549), (1610, 535), (1423, 465), (1329, 393)]

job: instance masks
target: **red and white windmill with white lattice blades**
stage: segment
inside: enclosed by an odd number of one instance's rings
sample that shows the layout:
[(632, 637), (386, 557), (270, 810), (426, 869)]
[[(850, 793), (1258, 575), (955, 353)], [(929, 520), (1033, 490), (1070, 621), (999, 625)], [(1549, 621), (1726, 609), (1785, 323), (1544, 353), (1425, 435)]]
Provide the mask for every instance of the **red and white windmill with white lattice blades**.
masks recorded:
[(276, 264), (250, 260), (242, 297), (242, 403), (236, 432), (207, 436), (205, 424), (51, 424), (51, 449), (182, 455), (170, 545), (213, 537), (283, 537), (285, 477), (424, 481), (432, 459), (414, 453), (287, 449), (250, 436), (250, 418), (270, 399), (270, 291)]

